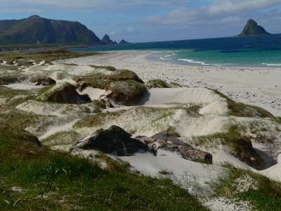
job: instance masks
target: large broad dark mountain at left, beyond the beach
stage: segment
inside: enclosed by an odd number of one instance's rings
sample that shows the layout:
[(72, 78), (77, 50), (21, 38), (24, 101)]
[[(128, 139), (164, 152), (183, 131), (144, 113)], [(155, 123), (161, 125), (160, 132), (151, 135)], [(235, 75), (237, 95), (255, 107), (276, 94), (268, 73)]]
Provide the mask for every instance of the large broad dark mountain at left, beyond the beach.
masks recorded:
[(32, 15), (21, 20), (0, 20), (0, 44), (104, 44), (77, 21), (51, 20)]

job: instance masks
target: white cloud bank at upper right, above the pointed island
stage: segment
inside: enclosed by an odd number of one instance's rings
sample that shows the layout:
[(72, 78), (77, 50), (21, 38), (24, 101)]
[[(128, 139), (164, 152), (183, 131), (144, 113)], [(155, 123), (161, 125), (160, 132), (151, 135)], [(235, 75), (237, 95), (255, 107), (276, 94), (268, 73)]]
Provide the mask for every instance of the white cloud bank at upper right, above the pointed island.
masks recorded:
[[(281, 6), (280, 0), (216, 0), (211, 5), (176, 8), (164, 15), (151, 15), (140, 20), (150, 25), (194, 25), (199, 23), (230, 23), (243, 18), (261, 16), (261, 9)], [(257, 15), (259, 13), (259, 15)], [(248, 16), (248, 17), (247, 17)]]

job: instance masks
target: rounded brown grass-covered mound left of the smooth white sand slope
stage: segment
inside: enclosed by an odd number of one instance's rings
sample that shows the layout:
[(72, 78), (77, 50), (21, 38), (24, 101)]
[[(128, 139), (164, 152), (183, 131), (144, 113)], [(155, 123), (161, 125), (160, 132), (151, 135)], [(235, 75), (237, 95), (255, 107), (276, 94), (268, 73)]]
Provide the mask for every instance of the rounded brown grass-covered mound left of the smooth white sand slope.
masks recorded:
[(111, 82), (105, 87), (105, 93), (98, 98), (107, 107), (135, 106), (145, 94), (143, 84), (135, 81)]

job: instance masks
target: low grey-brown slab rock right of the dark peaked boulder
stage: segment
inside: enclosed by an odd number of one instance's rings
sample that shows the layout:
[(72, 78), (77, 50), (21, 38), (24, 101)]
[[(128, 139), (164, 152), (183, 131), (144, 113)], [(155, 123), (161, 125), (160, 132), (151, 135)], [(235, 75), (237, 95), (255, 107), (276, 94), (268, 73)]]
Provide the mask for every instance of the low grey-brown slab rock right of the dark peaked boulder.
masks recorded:
[(208, 163), (212, 162), (213, 156), (210, 153), (193, 148), (188, 143), (169, 136), (168, 133), (159, 133), (151, 137), (137, 136), (136, 139), (147, 144), (149, 151), (155, 154), (159, 148), (162, 148), (165, 151), (176, 152), (181, 155), (182, 158), (188, 160), (201, 160)]

